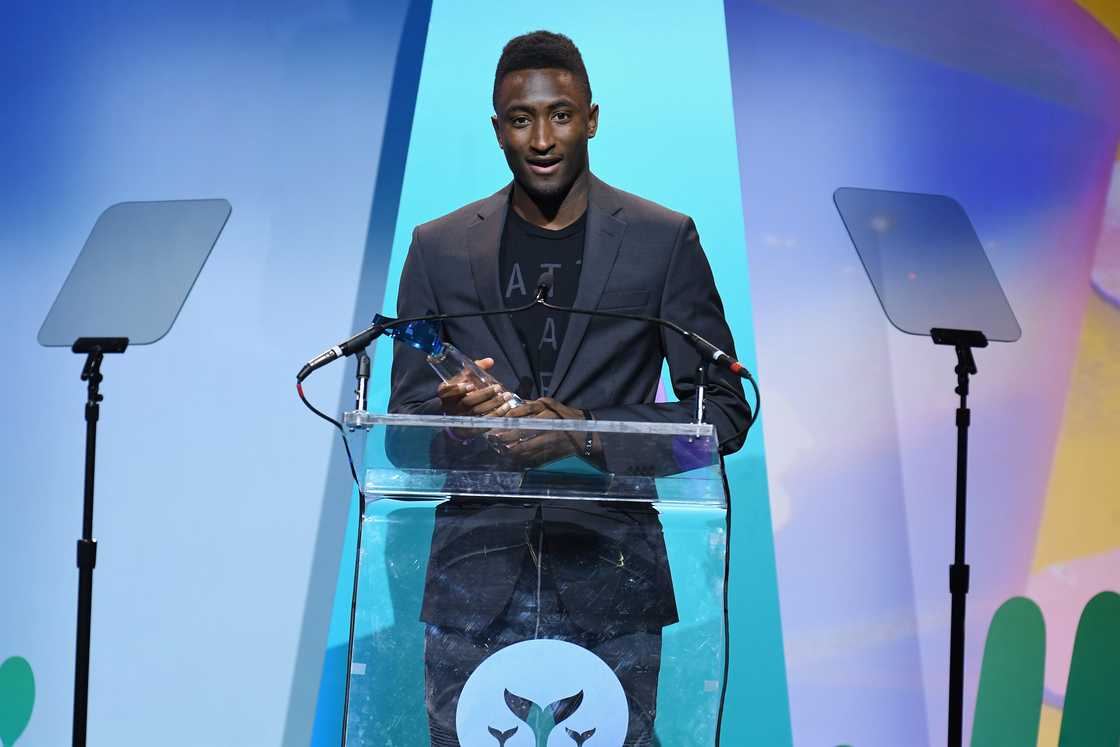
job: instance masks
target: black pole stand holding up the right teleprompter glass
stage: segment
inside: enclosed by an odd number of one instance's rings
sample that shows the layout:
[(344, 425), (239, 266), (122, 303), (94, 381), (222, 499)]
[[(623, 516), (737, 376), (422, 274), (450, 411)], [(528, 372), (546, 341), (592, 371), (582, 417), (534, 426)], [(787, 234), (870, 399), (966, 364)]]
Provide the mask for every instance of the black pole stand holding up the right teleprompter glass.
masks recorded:
[(949, 592), (952, 595), (949, 628), (949, 747), (960, 747), (964, 730), (964, 598), (969, 592), (969, 566), (964, 562), (964, 525), (968, 513), (969, 376), (977, 373), (973, 347), (987, 347), (983, 333), (968, 329), (930, 330), (936, 345), (956, 348), (956, 522), (953, 540), (953, 564), (949, 567)]

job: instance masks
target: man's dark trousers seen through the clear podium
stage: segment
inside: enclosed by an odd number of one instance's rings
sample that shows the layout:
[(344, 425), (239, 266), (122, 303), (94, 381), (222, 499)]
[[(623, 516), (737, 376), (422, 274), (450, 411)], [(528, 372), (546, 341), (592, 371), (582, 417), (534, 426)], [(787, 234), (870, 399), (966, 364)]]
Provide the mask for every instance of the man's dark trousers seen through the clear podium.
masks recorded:
[[(432, 747), (459, 747), (455, 731), (459, 693), (483, 660), (505, 646), (534, 638), (567, 641), (606, 662), (626, 692), (629, 727), (625, 747), (654, 745), (661, 629), (606, 635), (585, 631), (568, 618), (550, 576), (538, 572), (539, 560), (535, 553), (526, 554), (508, 606), (486, 629), (467, 632), (428, 625), (424, 633), (424, 700)], [(484, 583), (485, 579), (479, 582)], [(605, 631), (610, 627), (604, 625)]]

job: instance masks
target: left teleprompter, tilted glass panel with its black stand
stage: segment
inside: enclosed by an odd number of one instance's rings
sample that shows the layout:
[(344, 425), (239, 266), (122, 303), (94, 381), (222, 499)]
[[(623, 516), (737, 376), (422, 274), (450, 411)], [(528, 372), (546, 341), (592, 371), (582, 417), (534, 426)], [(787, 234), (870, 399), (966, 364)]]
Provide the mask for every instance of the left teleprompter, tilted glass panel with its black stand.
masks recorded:
[(85, 477), (77, 541), (77, 634), (74, 655), (74, 747), (86, 744), (90, 641), (93, 618), (94, 467), (101, 419), (101, 364), (129, 345), (166, 335), (217, 242), (230, 203), (186, 199), (119, 203), (97, 218), (66, 282), (39, 328), (39, 344), (84, 355)]

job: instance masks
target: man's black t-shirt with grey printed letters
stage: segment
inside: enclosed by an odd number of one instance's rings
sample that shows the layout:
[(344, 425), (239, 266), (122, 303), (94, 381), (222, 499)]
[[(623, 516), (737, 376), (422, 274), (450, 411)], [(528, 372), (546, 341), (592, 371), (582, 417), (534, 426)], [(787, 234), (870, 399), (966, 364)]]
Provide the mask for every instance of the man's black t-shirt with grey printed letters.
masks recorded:
[[(571, 225), (549, 231), (533, 225), (510, 207), (498, 263), (498, 281), (506, 307), (533, 300), (536, 280), (549, 270), (554, 280), (549, 301), (557, 306), (575, 306), (586, 226), (586, 212)], [(536, 387), (545, 396), (552, 394), (552, 373), (568, 330), (569, 316), (543, 307), (513, 315), (513, 326), (529, 355)]]

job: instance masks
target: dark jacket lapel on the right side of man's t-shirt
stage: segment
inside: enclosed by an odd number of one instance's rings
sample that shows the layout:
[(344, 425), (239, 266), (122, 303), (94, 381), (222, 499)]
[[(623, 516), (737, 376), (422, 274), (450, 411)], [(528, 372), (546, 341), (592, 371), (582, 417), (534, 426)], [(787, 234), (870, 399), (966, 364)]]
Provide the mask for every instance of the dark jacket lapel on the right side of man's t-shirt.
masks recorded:
[[(607, 278), (618, 256), (623, 234), (626, 232), (626, 221), (619, 215), (622, 206), (615, 199), (610, 187), (591, 176), (589, 193), (587, 237), (584, 242), (584, 262), (579, 272), (579, 289), (576, 291), (575, 304), (577, 308), (582, 309), (598, 307), (599, 298), (607, 287)], [(552, 381), (549, 382), (550, 393), (558, 400), (562, 401), (557, 392), (560, 391), (563, 377), (576, 358), (590, 321), (591, 317), (585, 314), (572, 314), (568, 320), (568, 330), (560, 345), (556, 371)]]

